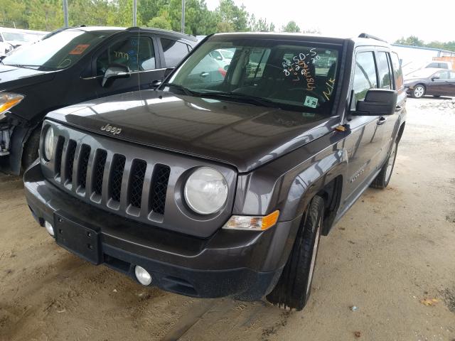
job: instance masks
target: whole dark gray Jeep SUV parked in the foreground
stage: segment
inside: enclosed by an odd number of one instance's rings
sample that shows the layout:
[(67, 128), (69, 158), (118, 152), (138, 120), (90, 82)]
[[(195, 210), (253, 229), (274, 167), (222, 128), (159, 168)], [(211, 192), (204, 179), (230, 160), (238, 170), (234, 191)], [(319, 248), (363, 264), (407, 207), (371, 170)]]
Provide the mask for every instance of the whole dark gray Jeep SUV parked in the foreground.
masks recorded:
[(50, 112), (28, 205), (144, 286), (301, 310), (321, 234), (389, 183), (405, 100), (378, 38), (215, 34), (156, 90)]

